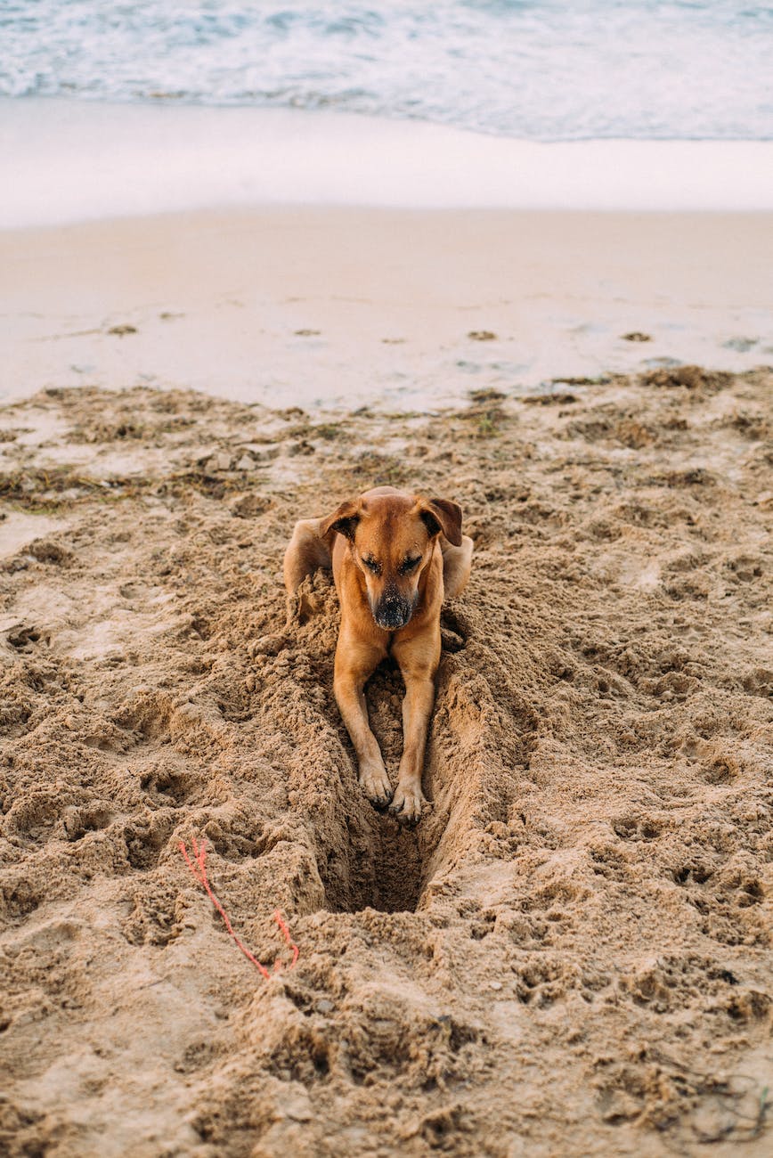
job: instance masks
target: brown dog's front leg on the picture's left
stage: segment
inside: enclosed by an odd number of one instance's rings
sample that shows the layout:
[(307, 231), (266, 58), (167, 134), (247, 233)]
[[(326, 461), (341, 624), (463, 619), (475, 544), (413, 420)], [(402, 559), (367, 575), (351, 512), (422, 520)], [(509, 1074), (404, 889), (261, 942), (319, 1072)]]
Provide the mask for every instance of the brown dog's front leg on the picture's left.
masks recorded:
[(368, 723), (365, 684), (382, 658), (383, 650), (354, 643), (341, 632), (336, 648), (333, 691), (356, 753), (360, 787), (376, 808), (387, 807), (392, 799), (392, 787), (381, 748)]

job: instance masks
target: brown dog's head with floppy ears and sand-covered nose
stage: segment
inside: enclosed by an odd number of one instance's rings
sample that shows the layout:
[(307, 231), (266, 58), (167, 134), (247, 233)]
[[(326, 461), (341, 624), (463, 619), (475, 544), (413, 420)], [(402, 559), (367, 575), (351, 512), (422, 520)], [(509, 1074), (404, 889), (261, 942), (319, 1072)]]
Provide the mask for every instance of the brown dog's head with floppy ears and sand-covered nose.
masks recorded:
[(419, 579), (441, 534), (462, 542), (462, 508), (449, 499), (425, 499), (399, 491), (369, 491), (343, 503), (321, 526), (349, 542), (365, 576), (373, 617), (385, 631), (404, 628), (419, 602)]

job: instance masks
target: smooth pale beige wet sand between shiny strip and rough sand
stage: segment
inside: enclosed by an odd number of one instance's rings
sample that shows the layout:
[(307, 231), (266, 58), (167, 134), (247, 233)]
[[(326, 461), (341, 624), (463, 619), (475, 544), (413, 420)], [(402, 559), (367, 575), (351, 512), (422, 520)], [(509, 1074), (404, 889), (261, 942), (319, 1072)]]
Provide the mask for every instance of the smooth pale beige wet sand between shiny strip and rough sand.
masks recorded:
[[(263, 207), (0, 233), (0, 398), (418, 409), (773, 360), (773, 214)], [(625, 340), (624, 335), (649, 340)]]

